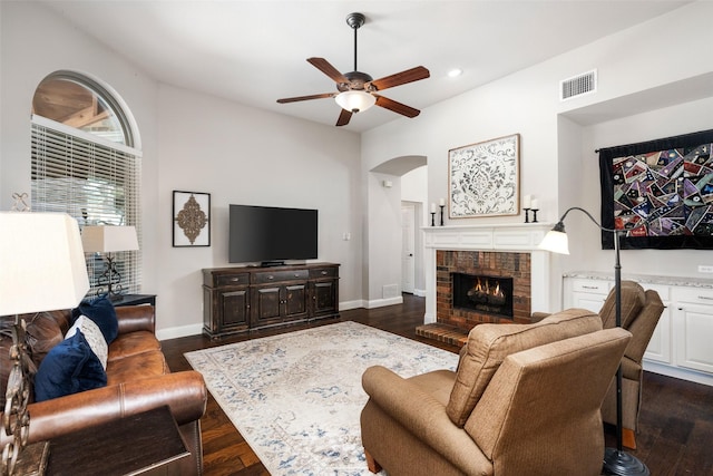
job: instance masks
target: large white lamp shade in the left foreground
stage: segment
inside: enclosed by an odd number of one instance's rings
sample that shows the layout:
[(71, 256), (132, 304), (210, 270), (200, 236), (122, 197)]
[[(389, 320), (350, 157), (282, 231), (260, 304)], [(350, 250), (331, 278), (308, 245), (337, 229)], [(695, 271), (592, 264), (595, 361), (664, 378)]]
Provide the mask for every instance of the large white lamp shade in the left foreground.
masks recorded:
[(0, 315), (74, 308), (88, 290), (75, 218), (0, 212)]

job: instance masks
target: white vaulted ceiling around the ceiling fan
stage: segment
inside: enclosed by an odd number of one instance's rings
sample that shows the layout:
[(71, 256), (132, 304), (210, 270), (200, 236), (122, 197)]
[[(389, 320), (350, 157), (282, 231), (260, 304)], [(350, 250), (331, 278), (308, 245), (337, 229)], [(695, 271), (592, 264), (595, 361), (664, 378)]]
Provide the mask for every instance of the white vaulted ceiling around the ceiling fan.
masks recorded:
[[(430, 70), (428, 79), (382, 93), (423, 109), (688, 2), (42, 1), (159, 81), (326, 125), (339, 116), (332, 99), (276, 99), (336, 90), (306, 58), (353, 69), (350, 12), (367, 16), (358, 32), (360, 71), (377, 79), (419, 65)], [(447, 77), (452, 68), (463, 74)], [(373, 107), (344, 128), (363, 132), (399, 117)]]

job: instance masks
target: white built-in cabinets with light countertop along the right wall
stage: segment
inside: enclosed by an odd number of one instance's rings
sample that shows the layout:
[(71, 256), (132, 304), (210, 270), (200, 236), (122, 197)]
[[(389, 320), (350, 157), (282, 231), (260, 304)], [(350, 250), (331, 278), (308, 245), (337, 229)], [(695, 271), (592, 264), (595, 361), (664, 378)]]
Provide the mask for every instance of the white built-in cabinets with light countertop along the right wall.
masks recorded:
[[(622, 279), (658, 292), (665, 305), (644, 353), (644, 369), (713, 385), (713, 281), (646, 275)], [(565, 274), (564, 309), (598, 312), (612, 288), (611, 274)]]

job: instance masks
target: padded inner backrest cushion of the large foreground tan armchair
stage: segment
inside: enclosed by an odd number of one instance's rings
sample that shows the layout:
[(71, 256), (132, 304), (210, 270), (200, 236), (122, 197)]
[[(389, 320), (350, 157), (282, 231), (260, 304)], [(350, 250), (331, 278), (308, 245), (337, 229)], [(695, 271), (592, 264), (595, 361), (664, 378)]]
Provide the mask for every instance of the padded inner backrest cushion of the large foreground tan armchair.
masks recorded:
[(557, 312), (535, 324), (480, 324), (468, 336), (446, 411), (466, 424), (492, 375), (510, 353), (602, 329), (602, 320), (584, 309)]

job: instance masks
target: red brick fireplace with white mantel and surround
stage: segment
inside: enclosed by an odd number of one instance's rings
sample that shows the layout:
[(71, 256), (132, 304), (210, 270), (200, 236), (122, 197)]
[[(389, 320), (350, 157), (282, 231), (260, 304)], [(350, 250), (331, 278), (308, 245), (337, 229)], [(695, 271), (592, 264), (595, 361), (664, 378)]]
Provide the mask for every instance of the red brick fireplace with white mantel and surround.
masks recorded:
[[(426, 245), (424, 324), (468, 333), (482, 322), (530, 322), (533, 311), (551, 311), (549, 253), (537, 247), (551, 224), (505, 224), (428, 226)], [(498, 279), (511, 279), (512, 313), (490, 305), (469, 309), (453, 305), (453, 275), (462, 274), (495, 286)], [(477, 284), (477, 281), (473, 281)], [(475, 293), (475, 292), (473, 292)]]

